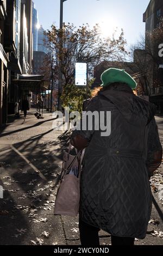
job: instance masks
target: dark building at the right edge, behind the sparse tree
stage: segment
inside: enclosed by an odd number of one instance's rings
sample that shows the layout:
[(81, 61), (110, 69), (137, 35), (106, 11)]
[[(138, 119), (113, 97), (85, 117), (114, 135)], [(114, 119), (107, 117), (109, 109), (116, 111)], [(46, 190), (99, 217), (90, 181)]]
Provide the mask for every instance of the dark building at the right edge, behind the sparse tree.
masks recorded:
[[(146, 23), (146, 32), (151, 32), (156, 29), (160, 24), (160, 19), (163, 17), (163, 1), (162, 0), (151, 0), (148, 7), (143, 14), (143, 22)], [(163, 33), (163, 28), (161, 29)], [(148, 38), (146, 36), (146, 51), (148, 44)], [(147, 71), (149, 88), (151, 92), (149, 93), (150, 101), (158, 106), (158, 112), (163, 113), (163, 69), (159, 66), (163, 64), (163, 58), (159, 57), (159, 44), (163, 43), (163, 34), (160, 35), (160, 39), (155, 40), (155, 44), (151, 43), (151, 54), (152, 58), (155, 60), (151, 61), (148, 56), (146, 62), (149, 66)]]

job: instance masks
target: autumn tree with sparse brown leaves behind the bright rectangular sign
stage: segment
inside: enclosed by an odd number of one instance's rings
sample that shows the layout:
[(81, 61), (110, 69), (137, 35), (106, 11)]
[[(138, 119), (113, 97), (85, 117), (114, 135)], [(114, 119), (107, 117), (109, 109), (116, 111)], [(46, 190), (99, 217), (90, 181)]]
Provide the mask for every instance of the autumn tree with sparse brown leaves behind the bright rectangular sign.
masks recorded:
[(64, 25), (62, 31), (53, 25), (51, 30), (47, 31), (47, 36), (49, 48), (53, 48), (55, 66), (60, 63), (63, 106), (67, 105), (68, 99), (69, 105), (81, 109), (82, 101), (86, 97), (85, 89), (74, 86), (77, 62), (87, 63), (89, 86), (91, 87), (93, 69), (96, 65), (103, 60), (120, 60), (126, 53), (126, 40), (124, 40), (123, 31), (118, 36), (102, 38), (97, 24), (93, 28), (90, 28), (88, 24), (77, 28), (68, 23)]

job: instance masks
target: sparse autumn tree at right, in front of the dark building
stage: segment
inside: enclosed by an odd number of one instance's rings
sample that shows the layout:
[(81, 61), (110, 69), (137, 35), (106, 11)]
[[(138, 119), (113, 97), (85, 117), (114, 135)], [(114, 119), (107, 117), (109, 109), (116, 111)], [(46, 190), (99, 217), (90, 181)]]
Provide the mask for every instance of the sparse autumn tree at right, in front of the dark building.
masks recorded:
[(129, 57), (134, 59), (134, 71), (139, 74), (139, 94), (152, 94), (152, 88), (158, 87), (162, 82), (162, 74), (159, 65), (162, 58), (159, 57), (159, 45), (163, 42), (163, 19), (152, 31), (147, 31), (145, 36), (130, 48)]

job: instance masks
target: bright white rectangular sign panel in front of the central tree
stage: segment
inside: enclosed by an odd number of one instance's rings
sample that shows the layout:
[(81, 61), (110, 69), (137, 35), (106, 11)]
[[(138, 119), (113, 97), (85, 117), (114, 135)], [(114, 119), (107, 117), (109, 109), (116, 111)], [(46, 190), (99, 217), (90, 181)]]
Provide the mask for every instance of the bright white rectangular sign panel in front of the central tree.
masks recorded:
[(76, 63), (76, 86), (87, 85), (87, 64)]

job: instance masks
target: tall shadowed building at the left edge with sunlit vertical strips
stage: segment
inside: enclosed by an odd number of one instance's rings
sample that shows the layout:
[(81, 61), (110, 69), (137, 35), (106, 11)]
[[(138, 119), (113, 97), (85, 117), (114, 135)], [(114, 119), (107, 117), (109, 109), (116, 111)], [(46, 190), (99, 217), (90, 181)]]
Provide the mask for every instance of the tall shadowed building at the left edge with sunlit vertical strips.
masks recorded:
[(17, 113), (20, 88), (15, 80), (32, 72), (32, 1), (0, 1), (0, 126)]

